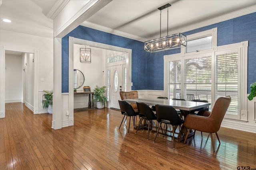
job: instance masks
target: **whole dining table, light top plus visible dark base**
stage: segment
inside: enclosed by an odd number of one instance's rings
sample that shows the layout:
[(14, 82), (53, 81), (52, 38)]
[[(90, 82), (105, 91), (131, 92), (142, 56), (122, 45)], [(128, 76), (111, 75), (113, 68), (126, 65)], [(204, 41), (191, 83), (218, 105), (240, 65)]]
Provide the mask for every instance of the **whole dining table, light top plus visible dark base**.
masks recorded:
[[(179, 109), (181, 116), (186, 119), (186, 116), (195, 109), (204, 108), (210, 106), (210, 103), (205, 102), (192, 102), (192, 101), (183, 101), (183, 100), (172, 100), (172, 99), (159, 99), (159, 98), (137, 98), (137, 99), (125, 99), (126, 102), (136, 103), (136, 102), (143, 102), (150, 106), (155, 106), (156, 104), (168, 105), (172, 106), (175, 109)], [(157, 113), (156, 113), (157, 114)], [(176, 128), (175, 128), (176, 130)], [(186, 135), (188, 128), (182, 125), (182, 130), (179, 132), (177, 140), (178, 142), (182, 141), (182, 136)], [(194, 132), (190, 130), (188, 137), (192, 137)]]

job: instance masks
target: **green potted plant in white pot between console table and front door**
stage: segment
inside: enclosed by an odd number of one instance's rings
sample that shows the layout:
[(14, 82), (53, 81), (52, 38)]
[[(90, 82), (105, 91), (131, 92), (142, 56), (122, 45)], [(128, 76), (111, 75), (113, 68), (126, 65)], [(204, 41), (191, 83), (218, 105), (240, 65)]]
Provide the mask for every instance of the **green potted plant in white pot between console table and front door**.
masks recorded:
[(105, 96), (106, 86), (96, 86), (94, 88), (93, 102), (96, 103), (98, 109), (102, 109), (105, 107), (105, 103), (107, 102), (107, 97)]

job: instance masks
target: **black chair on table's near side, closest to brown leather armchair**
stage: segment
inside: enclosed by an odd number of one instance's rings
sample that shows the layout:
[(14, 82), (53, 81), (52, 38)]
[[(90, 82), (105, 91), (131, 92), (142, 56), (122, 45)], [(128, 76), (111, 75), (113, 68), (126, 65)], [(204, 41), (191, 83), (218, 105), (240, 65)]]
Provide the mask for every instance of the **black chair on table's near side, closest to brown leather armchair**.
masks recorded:
[[(167, 125), (172, 125), (172, 141), (173, 141), (173, 149), (175, 149), (175, 143), (174, 143), (174, 134), (175, 134), (175, 128), (174, 126), (179, 126), (180, 130), (182, 123), (184, 123), (184, 120), (180, 119), (180, 116), (178, 115), (176, 109), (172, 106), (167, 105), (156, 105), (156, 119), (158, 123), (160, 123), (160, 127), (158, 127), (158, 131), (156, 133), (156, 137), (158, 135), (159, 129), (162, 128), (162, 123), (166, 125), (166, 131), (167, 132)], [(154, 142), (156, 141), (156, 137), (154, 139)]]

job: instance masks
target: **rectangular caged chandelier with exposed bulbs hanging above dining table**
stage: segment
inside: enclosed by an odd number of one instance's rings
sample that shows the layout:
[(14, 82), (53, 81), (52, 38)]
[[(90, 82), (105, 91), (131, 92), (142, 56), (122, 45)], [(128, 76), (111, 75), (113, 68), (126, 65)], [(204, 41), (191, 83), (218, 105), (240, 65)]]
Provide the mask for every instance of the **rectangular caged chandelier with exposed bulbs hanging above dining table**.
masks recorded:
[[(163, 51), (168, 49), (175, 49), (179, 47), (186, 47), (186, 36), (182, 33), (176, 33), (173, 35), (168, 35), (168, 7), (170, 4), (166, 4), (158, 8), (160, 10), (160, 38), (153, 39), (145, 42), (144, 50), (148, 52)], [(167, 36), (161, 37), (161, 13), (162, 10), (167, 8)]]

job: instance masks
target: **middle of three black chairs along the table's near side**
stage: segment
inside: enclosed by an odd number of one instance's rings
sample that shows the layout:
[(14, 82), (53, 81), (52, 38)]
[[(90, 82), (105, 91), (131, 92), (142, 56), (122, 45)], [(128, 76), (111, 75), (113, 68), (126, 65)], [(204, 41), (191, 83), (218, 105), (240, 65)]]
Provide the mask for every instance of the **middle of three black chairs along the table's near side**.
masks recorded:
[[(151, 125), (152, 128), (152, 121), (156, 120), (156, 114), (152, 111), (152, 109), (145, 103), (139, 103), (137, 102), (137, 107), (138, 107), (138, 112), (139, 112), (139, 117), (140, 117), (140, 122), (138, 124), (136, 133), (140, 127), (140, 125), (142, 125), (142, 121), (143, 120), (147, 120), (148, 121), (148, 137), (149, 137), (149, 127)], [(142, 125), (142, 129), (143, 129), (143, 125)], [(148, 140), (148, 138), (147, 138)]]

